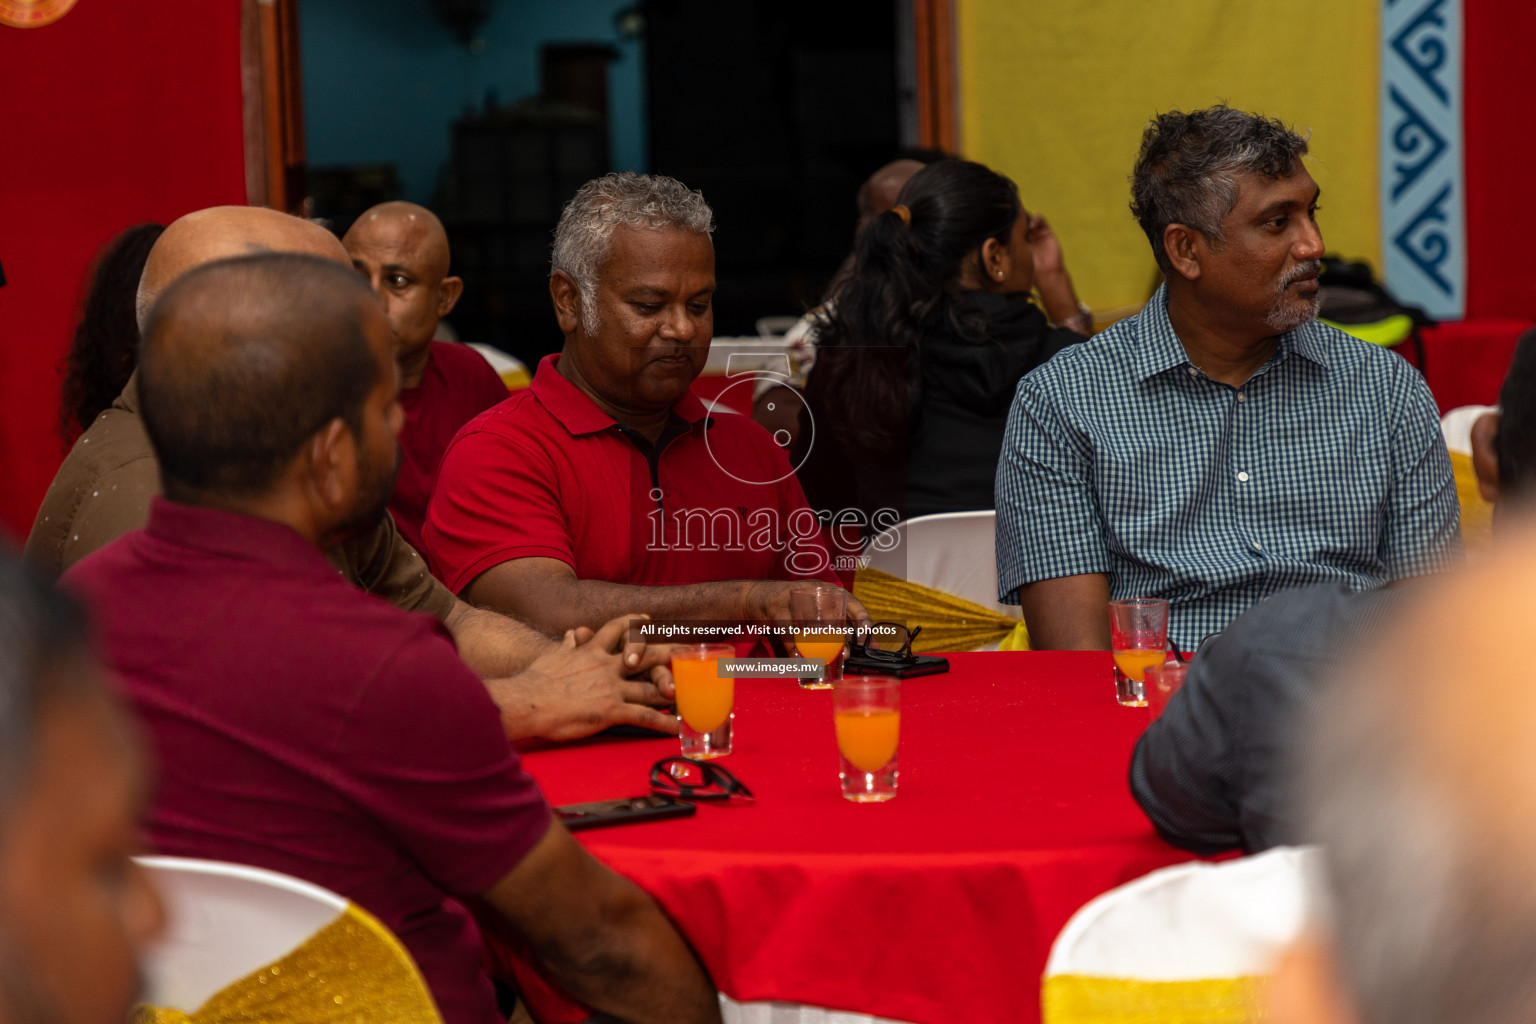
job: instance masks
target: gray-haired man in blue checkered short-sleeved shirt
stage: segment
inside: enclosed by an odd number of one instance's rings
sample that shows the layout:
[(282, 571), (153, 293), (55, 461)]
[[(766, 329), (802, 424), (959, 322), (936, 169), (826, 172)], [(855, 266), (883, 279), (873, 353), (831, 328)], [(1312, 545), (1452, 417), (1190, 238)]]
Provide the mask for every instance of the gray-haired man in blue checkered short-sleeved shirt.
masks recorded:
[(1459, 553), (1424, 378), (1315, 321), (1306, 152), (1224, 106), (1147, 126), (1132, 210), (1166, 284), (1020, 381), (997, 465), (1000, 600), (1031, 646), (1106, 649), (1106, 602), (1157, 596), (1189, 649), (1279, 590)]

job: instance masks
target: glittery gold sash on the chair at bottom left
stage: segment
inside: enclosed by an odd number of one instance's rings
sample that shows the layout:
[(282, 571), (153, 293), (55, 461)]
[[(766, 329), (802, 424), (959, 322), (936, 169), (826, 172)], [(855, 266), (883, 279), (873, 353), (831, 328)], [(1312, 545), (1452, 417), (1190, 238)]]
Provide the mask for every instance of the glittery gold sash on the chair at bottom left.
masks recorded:
[(421, 972), (372, 913), (347, 904), (298, 949), (192, 1013), (140, 1006), (132, 1024), (442, 1024)]

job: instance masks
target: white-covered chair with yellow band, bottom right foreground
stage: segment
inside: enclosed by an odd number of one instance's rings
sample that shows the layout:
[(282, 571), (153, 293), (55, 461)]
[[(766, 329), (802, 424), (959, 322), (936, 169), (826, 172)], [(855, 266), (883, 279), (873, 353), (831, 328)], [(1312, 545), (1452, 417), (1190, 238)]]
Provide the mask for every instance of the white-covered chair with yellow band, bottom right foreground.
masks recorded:
[(1072, 915), (1051, 947), (1044, 1024), (1256, 1019), (1258, 986), (1307, 918), (1315, 847), (1155, 870)]

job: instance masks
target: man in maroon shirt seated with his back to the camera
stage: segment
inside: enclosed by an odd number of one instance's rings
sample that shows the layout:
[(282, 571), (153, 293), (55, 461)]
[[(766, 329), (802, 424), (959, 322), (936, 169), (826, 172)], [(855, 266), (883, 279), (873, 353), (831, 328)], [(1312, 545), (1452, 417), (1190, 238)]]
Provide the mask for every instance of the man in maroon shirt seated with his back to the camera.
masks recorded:
[(502, 1021), (468, 898), (601, 1012), (719, 1021), (656, 904), (550, 820), (442, 623), (326, 560), (384, 514), (398, 390), (382, 309), (327, 259), (214, 263), (151, 313), (140, 401), (164, 493), (65, 583), (94, 605), (157, 755), (152, 843), (356, 901), (447, 1024)]

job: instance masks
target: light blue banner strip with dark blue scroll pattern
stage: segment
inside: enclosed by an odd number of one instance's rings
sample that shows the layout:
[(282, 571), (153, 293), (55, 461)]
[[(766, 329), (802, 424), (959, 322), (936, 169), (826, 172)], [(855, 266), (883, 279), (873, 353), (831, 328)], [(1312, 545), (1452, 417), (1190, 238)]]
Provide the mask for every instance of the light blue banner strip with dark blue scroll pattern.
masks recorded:
[(1379, 109), (1387, 289), (1432, 316), (1461, 319), (1461, 0), (1382, 0)]

